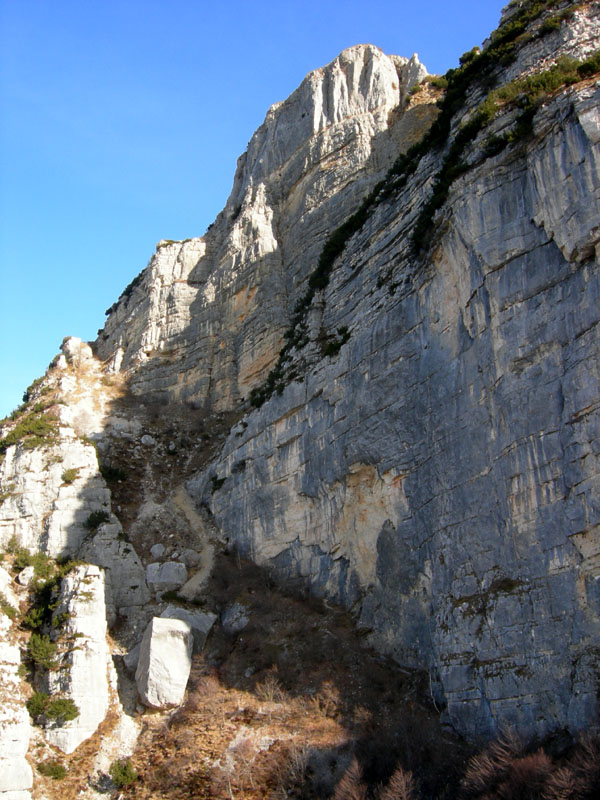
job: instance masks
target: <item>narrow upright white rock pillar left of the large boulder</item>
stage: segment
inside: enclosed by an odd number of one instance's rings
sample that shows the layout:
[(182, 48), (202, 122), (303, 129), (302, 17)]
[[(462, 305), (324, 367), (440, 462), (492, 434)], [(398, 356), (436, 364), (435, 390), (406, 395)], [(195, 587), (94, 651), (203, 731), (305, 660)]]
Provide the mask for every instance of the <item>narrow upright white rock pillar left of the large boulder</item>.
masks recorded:
[(55, 614), (66, 617), (60, 639), (67, 646), (60, 668), (48, 673), (48, 693), (73, 700), (79, 716), (49, 729), (46, 738), (63, 753), (72, 753), (88, 739), (108, 710), (110, 652), (104, 597), (104, 571), (99, 567), (75, 567), (62, 581)]

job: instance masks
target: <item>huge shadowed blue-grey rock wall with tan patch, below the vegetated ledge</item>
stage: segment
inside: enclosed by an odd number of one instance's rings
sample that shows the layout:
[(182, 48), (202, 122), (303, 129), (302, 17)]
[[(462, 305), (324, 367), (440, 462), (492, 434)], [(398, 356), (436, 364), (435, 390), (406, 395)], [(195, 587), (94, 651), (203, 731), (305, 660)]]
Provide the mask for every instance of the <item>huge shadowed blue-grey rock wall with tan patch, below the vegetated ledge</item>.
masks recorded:
[(557, 97), (457, 181), (416, 278), (414, 194), (382, 207), (326, 292), (349, 342), (230, 436), (219, 491), (194, 484), (244, 553), (425, 659), (470, 735), (597, 719), (599, 103)]

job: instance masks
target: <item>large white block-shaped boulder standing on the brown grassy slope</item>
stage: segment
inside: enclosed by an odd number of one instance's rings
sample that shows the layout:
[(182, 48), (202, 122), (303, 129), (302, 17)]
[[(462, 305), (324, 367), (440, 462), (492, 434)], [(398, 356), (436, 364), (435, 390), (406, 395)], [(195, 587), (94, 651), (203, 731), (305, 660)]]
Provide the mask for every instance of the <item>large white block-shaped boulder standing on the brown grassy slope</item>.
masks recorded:
[(188, 622), (154, 617), (142, 639), (135, 673), (138, 692), (152, 708), (183, 701), (192, 666), (194, 637)]

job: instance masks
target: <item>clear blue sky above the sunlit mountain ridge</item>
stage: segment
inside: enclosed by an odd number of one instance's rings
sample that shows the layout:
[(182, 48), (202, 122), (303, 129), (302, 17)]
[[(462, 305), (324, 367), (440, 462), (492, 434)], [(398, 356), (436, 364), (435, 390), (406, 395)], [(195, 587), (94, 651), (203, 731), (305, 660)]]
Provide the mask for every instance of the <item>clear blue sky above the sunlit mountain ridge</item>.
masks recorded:
[(502, 5), (0, 0), (0, 416), (156, 242), (204, 233), (307, 72), (364, 42), (445, 72)]

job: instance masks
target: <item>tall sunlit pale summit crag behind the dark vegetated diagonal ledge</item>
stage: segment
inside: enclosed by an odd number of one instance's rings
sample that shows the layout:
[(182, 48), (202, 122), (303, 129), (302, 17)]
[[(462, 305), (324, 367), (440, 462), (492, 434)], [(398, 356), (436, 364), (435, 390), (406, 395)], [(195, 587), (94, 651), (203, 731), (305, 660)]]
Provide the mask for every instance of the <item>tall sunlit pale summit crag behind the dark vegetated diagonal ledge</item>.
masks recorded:
[(269, 109), (215, 224), (161, 243), (96, 341), (135, 394), (220, 410), (262, 381), (323, 235), (435, 116), (399, 113), (426, 74), (416, 56), (359, 45)]

